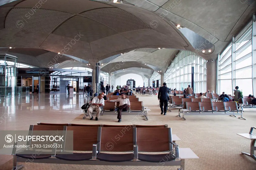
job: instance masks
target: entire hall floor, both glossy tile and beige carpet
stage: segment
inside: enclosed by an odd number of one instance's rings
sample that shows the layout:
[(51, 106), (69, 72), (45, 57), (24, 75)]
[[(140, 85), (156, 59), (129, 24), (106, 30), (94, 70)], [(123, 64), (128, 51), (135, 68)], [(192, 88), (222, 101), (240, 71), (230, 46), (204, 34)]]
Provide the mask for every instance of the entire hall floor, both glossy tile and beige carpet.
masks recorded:
[[(172, 128), (181, 141), (177, 142), (181, 148), (191, 148), (199, 159), (186, 160), (187, 170), (255, 170), (256, 162), (241, 151), (250, 152), (250, 140), (242, 138), (236, 133), (248, 133), (250, 127), (255, 126), (255, 109), (244, 112), (247, 120), (231, 116), (187, 116), (184, 121), (177, 118), (177, 109), (160, 115), (157, 96), (136, 94), (144, 106), (148, 106), (149, 120), (142, 116), (123, 116), (122, 122), (117, 123), (115, 116), (100, 116), (99, 121), (82, 120), (81, 106), (88, 102), (83, 94), (30, 94), (0, 98), (0, 130), (28, 130), (30, 124), (44, 123), (74, 123), (74, 124), (112, 124), (112, 125), (165, 125)], [(90, 100), (90, 99), (89, 99)], [(159, 141), (161, 144), (161, 141)], [(13, 156), (0, 155), (0, 170), (12, 168)], [(24, 164), (24, 163), (23, 163)], [(95, 166), (68, 164), (26, 164), (23, 169), (106, 169), (106, 170), (175, 170), (177, 167), (157, 166)]]

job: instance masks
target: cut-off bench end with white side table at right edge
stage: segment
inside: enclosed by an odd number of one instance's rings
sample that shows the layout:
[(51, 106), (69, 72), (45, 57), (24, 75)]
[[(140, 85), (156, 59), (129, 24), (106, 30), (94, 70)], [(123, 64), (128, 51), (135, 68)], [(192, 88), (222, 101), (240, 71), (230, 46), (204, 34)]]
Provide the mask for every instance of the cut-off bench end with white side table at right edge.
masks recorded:
[(251, 127), (249, 133), (237, 133), (237, 135), (251, 140), (250, 153), (246, 153), (246, 152), (241, 152), (241, 153), (244, 154), (244, 155), (250, 156), (252, 159), (254, 159), (256, 161), (256, 156), (255, 156), (255, 153), (254, 153), (255, 150), (256, 150), (256, 146), (255, 146), (256, 134), (252, 133), (253, 129), (256, 129), (256, 128), (255, 127)]

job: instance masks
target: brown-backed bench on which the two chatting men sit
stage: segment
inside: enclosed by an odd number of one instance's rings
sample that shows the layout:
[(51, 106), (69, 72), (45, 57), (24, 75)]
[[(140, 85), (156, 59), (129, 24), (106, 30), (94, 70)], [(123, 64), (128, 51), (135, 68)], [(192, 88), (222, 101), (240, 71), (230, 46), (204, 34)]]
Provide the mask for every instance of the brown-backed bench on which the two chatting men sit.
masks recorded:
[[(119, 107), (119, 102), (105, 102), (104, 106), (101, 106), (101, 113), (100, 115), (115, 115), (117, 116), (118, 112), (116, 109)], [(85, 119), (88, 114), (84, 113), (85, 116), (83, 116), (82, 119)], [(96, 115), (97, 112), (93, 111), (92, 115)], [(127, 111), (122, 111), (122, 116), (123, 115), (139, 115), (143, 116), (146, 120), (148, 120), (148, 113), (147, 110), (145, 110), (143, 106), (142, 101), (130, 101), (130, 107), (128, 108)]]

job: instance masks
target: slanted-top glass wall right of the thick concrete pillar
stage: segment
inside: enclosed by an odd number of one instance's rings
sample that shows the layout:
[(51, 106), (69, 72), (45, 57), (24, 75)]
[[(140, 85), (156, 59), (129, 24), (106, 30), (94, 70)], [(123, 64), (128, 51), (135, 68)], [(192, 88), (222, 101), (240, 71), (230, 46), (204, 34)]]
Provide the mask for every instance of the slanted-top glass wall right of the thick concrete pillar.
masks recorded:
[(238, 35), (233, 37), (231, 43), (218, 56), (218, 94), (222, 92), (233, 94), (233, 89), (236, 86), (245, 96), (253, 94), (252, 44), (256, 42), (252, 41), (252, 30), (252, 21), (250, 21)]

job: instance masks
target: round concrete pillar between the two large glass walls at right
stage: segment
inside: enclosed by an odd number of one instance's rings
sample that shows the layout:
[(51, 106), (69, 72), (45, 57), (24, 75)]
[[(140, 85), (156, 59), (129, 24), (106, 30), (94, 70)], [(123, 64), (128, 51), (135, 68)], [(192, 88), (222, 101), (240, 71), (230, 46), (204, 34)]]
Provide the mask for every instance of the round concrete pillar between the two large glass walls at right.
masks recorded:
[(216, 93), (216, 75), (217, 75), (217, 61), (211, 62), (208, 60), (206, 63), (206, 90), (214, 90)]

